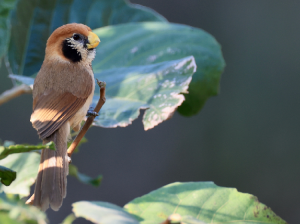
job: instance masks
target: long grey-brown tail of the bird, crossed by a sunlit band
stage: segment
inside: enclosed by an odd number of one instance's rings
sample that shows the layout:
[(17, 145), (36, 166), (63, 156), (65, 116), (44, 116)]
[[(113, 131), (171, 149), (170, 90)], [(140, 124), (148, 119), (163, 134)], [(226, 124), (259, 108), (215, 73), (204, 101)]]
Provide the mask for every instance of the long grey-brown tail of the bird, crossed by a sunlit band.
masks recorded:
[(69, 173), (67, 156), (69, 133), (70, 126), (66, 122), (49, 138), (55, 143), (56, 150), (42, 150), (34, 194), (27, 203), (35, 205), (43, 211), (46, 211), (49, 205), (54, 211), (58, 211), (62, 205), (63, 198), (66, 197), (67, 175)]

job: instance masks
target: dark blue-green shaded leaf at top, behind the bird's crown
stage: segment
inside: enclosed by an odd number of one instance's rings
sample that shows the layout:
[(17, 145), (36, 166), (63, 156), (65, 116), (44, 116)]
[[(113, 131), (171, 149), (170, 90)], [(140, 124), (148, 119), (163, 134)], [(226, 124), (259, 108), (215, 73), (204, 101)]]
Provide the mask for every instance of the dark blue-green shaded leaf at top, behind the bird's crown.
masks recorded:
[(95, 29), (141, 21), (166, 19), (124, 0), (19, 0), (11, 17), (10, 66), (14, 74), (30, 76), (38, 72), (48, 37), (66, 23), (84, 23)]

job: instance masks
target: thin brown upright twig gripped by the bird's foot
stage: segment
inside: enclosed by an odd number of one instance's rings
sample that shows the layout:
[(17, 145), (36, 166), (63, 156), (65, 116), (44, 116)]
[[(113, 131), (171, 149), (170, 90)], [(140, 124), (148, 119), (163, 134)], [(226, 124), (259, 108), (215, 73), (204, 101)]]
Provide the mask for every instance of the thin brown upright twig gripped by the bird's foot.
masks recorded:
[[(99, 113), (100, 109), (102, 108), (102, 106), (104, 105), (106, 99), (105, 99), (105, 82), (100, 82), (97, 79), (97, 84), (100, 87), (100, 98), (99, 101), (97, 103), (97, 106), (94, 109), (94, 112)], [(76, 138), (74, 139), (74, 141), (72, 142), (72, 144), (70, 145), (70, 147), (68, 148), (68, 156), (71, 158), (72, 153), (74, 152), (75, 148), (78, 146), (80, 140), (83, 138), (83, 136), (85, 135), (85, 133), (87, 132), (87, 130), (89, 129), (89, 127), (92, 125), (93, 121), (94, 121), (95, 117), (94, 116), (89, 116), (86, 119), (86, 122), (84, 123), (82, 129), (80, 130), (80, 132), (78, 133), (78, 135), (76, 136)]]

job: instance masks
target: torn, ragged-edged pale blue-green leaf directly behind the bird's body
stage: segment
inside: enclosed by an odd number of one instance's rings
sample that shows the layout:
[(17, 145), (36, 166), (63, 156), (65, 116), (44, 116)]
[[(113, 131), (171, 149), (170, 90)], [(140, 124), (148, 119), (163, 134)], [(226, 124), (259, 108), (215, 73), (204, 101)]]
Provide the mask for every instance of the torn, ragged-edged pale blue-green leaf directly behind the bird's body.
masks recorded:
[[(97, 66), (96, 66), (97, 67)], [(136, 119), (140, 109), (149, 108), (143, 117), (145, 130), (168, 119), (181, 105), (196, 70), (193, 57), (165, 61), (144, 66), (101, 70), (95, 77), (106, 82), (106, 103), (94, 124), (101, 127), (125, 127)], [(12, 75), (11, 78), (27, 85), (33, 78)], [(93, 105), (99, 100), (95, 89)]]

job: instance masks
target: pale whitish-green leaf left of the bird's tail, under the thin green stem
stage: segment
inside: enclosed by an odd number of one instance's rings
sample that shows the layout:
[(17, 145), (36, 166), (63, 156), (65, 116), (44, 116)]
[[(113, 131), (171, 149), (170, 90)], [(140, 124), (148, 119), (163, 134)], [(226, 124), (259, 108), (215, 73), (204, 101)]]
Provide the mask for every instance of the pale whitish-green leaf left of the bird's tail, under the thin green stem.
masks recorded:
[(34, 152), (12, 154), (3, 160), (0, 165), (17, 172), (17, 178), (9, 187), (0, 184), (0, 192), (28, 196), (30, 186), (35, 182), (40, 164), (40, 155)]

